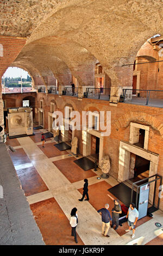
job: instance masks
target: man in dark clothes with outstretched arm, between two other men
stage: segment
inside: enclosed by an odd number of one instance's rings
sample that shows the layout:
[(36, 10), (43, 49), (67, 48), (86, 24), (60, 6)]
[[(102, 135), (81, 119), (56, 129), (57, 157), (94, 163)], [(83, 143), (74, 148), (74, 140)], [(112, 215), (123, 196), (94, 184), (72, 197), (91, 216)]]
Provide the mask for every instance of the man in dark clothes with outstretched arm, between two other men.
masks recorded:
[(120, 205), (118, 199), (112, 198), (110, 196), (110, 194), (107, 194), (107, 196), (110, 197), (110, 199), (114, 201), (114, 208), (112, 208), (112, 224), (111, 224), (111, 228), (113, 228), (114, 225), (116, 225), (115, 230), (117, 230), (118, 225), (119, 225), (119, 217), (120, 217), (120, 214), (122, 214), (121, 205)]

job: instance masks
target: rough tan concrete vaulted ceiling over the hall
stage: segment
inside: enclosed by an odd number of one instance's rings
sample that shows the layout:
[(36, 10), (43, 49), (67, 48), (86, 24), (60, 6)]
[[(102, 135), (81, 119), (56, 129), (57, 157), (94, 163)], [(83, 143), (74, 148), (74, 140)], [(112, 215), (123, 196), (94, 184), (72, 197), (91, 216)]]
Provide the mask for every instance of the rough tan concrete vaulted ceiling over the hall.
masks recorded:
[(1, 35), (27, 37), (13, 65), (31, 73), (62, 72), (83, 80), (97, 60), (116, 81), (154, 34), (163, 34), (161, 0), (1, 1)]

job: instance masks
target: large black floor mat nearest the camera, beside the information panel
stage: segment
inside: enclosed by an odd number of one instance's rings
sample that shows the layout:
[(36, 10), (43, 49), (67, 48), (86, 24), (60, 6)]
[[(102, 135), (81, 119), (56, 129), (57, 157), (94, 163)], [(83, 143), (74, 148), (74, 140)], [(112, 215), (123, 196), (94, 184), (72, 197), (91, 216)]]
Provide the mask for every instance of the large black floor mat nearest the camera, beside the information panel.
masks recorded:
[[(109, 188), (108, 190), (111, 194), (113, 194), (117, 199), (119, 199), (124, 205), (129, 207), (130, 203), (136, 203), (136, 192), (133, 191), (133, 200), (131, 202), (131, 188), (123, 184), (120, 184)], [(137, 198), (137, 202), (139, 202), (139, 196)]]

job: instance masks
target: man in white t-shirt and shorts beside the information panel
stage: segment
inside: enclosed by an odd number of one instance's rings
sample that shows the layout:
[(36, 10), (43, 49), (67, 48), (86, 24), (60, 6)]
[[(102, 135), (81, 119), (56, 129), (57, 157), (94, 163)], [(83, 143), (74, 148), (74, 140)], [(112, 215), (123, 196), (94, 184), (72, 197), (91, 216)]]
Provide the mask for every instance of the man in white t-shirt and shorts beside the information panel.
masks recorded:
[(129, 232), (131, 229), (133, 229), (133, 234), (131, 235), (131, 238), (135, 237), (135, 226), (136, 226), (138, 217), (139, 217), (139, 211), (137, 211), (137, 209), (135, 208), (135, 204), (131, 203), (126, 216), (126, 218), (128, 218), (129, 228), (125, 230), (126, 232)]

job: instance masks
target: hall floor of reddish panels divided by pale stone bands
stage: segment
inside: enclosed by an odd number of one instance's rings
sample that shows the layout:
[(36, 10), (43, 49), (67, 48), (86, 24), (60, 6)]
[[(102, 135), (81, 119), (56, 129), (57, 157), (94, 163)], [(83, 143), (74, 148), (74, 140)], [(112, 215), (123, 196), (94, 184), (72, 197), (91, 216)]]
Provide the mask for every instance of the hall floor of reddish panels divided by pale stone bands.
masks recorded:
[[(127, 223), (118, 230), (110, 228), (109, 238), (102, 236), (101, 215), (97, 210), (105, 203), (112, 209), (113, 202), (107, 193), (108, 188), (118, 184), (117, 180), (111, 176), (98, 180), (100, 169), (84, 172), (73, 162), (76, 157), (70, 150), (57, 151), (53, 138), (42, 148), (39, 136), (41, 132), (37, 131), (36, 139), (22, 137), (8, 139), (7, 143), (16, 149), (10, 156), (46, 245), (76, 245), (69, 224), (73, 207), (78, 209), (78, 245), (127, 245), (135, 241), (142, 245), (163, 245), (163, 230), (154, 225), (163, 224), (160, 210), (154, 212), (153, 218), (147, 216), (137, 222), (134, 240), (125, 232)], [(85, 178), (89, 180), (90, 200), (79, 202)]]

